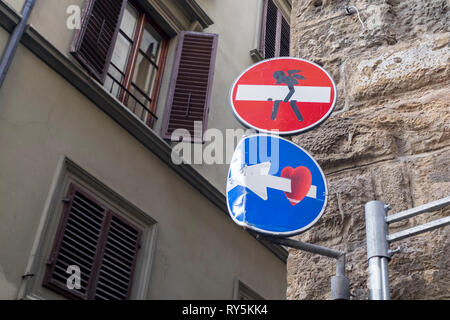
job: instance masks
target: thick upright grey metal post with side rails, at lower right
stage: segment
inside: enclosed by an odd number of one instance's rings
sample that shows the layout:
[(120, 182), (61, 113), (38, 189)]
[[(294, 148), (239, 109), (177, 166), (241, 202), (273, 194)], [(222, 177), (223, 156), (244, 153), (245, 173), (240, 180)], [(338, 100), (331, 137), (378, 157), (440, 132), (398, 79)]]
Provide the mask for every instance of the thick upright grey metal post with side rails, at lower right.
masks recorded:
[(366, 203), (367, 259), (369, 262), (370, 299), (389, 300), (388, 262), (391, 259), (387, 241), (386, 211), (390, 207), (375, 200)]

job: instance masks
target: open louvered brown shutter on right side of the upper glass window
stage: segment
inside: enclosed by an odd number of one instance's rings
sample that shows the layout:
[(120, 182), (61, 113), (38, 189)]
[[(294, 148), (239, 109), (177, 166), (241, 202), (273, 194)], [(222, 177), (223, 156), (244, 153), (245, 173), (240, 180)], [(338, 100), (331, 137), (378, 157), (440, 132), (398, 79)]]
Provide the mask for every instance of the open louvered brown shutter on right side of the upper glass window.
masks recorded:
[[(176, 129), (186, 129), (194, 137), (194, 122), (202, 131), (208, 119), (218, 35), (183, 31), (171, 78), (163, 137), (170, 139)], [(195, 141), (203, 137), (195, 137)]]

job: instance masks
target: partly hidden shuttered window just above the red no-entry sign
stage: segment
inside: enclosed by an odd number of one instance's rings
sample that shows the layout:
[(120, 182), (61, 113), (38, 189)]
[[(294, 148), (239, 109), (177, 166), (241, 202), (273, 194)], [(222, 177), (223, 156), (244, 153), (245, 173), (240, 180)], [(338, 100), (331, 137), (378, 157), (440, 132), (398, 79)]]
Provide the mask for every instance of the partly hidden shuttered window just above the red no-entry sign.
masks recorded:
[(264, 1), (260, 53), (264, 59), (289, 56), (290, 26), (274, 0)]

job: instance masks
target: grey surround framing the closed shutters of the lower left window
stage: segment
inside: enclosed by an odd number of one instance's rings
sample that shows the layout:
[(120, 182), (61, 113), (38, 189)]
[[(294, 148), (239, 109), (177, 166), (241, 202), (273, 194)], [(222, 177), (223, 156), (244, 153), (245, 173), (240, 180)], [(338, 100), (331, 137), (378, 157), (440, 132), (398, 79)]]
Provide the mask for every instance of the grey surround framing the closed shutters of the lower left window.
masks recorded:
[(142, 231), (140, 252), (145, 252), (145, 254), (137, 256), (129, 298), (148, 299), (158, 237), (158, 222), (149, 213), (136, 207), (66, 156), (62, 156), (56, 166), (17, 298), (25, 300), (67, 299), (67, 296), (60, 292), (44, 287), (43, 281), (47, 271), (46, 263), (63, 218), (61, 213), (64, 208), (64, 200), (72, 183), (95, 196), (104, 205), (111, 208), (116, 216), (130, 221)]

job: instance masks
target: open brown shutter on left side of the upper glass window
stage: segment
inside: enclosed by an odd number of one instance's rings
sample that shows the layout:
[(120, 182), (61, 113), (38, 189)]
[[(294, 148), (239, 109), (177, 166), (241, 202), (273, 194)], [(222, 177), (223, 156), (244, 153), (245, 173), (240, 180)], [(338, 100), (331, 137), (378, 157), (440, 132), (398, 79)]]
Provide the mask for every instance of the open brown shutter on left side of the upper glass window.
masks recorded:
[(89, 0), (71, 53), (101, 83), (105, 82), (126, 0)]

